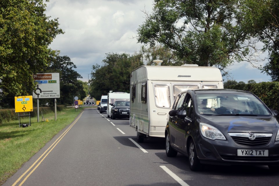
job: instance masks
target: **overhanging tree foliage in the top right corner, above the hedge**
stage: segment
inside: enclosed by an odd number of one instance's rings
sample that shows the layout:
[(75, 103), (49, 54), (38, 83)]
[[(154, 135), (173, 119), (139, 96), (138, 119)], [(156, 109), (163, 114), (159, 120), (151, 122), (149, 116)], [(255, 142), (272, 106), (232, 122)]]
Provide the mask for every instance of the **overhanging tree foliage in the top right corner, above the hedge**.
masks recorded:
[(279, 1), (241, 0), (242, 27), (264, 43), (263, 51), (269, 52), (269, 61), (259, 69), (278, 81), (279, 75)]

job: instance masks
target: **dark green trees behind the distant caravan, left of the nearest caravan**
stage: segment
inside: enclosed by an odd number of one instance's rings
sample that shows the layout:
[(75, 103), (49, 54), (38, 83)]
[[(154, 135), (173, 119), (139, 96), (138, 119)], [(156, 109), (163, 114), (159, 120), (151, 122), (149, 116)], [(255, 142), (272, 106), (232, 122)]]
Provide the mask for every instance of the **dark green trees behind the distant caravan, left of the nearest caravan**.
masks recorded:
[(103, 59), (103, 66), (92, 66), (90, 89), (93, 96), (100, 100), (102, 95), (113, 92), (130, 92), (130, 73), (133, 69), (143, 65), (142, 56), (126, 53), (107, 53)]

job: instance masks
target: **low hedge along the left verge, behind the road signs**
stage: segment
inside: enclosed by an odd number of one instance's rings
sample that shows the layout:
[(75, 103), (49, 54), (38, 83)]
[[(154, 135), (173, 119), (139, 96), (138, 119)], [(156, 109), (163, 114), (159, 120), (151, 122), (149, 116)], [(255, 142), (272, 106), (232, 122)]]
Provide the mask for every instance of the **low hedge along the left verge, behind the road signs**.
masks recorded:
[[(64, 110), (66, 108), (65, 105), (57, 105), (56, 109), (57, 111)], [(54, 112), (54, 107), (40, 107), (40, 114), (43, 112), (43, 114)], [(30, 112), (31, 117), (37, 117), (37, 107), (33, 108), (33, 112)], [(9, 122), (12, 120), (18, 120), (18, 113), (15, 112), (15, 109), (1, 109), (0, 110), (0, 124), (3, 122)]]

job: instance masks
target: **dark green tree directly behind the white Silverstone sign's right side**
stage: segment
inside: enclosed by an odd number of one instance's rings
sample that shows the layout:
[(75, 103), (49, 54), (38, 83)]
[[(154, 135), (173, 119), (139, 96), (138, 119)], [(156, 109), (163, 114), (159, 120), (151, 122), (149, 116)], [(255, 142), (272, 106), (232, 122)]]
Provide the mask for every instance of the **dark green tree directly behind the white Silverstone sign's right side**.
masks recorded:
[(74, 96), (79, 98), (86, 96), (82, 81), (77, 80), (82, 77), (74, 69), (76, 65), (68, 56), (57, 56), (49, 63), (48, 72), (59, 72), (61, 95), (58, 103), (71, 104)]

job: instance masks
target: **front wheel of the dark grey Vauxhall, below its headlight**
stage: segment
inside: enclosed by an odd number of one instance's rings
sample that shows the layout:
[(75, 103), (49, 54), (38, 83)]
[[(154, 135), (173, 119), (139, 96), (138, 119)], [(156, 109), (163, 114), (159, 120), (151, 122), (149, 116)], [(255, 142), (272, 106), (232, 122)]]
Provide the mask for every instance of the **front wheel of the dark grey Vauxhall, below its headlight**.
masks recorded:
[(188, 155), (189, 155), (189, 167), (191, 171), (200, 171), (202, 169), (202, 164), (198, 159), (196, 147), (192, 139), (188, 147)]

